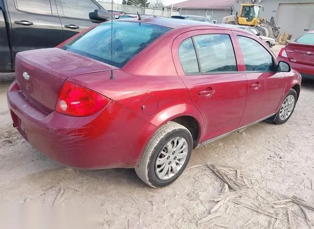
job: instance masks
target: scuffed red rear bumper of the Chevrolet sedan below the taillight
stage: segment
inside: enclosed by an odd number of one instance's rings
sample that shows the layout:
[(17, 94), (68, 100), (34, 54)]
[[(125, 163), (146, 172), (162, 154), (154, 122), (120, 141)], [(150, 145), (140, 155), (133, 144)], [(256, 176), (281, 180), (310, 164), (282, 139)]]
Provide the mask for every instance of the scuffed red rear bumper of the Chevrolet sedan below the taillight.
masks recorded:
[(72, 117), (45, 114), (9, 87), (14, 125), (37, 150), (63, 165), (81, 169), (133, 168), (156, 126), (114, 101), (97, 114)]

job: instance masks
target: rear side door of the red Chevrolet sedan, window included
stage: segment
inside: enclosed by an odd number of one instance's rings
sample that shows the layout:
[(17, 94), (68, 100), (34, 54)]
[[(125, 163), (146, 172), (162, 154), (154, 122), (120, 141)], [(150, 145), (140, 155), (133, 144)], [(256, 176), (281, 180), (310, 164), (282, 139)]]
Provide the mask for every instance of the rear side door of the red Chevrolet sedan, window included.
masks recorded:
[(247, 79), (237, 69), (233, 39), (230, 31), (196, 30), (173, 43), (177, 72), (204, 118), (203, 142), (238, 128), (244, 111)]

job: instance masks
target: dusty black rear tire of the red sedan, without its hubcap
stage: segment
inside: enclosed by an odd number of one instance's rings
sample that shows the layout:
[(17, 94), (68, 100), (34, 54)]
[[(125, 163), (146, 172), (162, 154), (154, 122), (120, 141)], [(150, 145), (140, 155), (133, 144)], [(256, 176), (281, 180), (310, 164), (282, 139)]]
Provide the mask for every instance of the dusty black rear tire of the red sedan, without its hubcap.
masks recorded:
[[(183, 138), (187, 143), (187, 156), (181, 169), (173, 177), (162, 180), (155, 172), (155, 163), (159, 152), (174, 138)], [(139, 165), (135, 168), (138, 177), (153, 188), (162, 188), (174, 182), (182, 174), (191, 157), (193, 139), (191, 133), (183, 125), (168, 122), (163, 125), (147, 144)]]

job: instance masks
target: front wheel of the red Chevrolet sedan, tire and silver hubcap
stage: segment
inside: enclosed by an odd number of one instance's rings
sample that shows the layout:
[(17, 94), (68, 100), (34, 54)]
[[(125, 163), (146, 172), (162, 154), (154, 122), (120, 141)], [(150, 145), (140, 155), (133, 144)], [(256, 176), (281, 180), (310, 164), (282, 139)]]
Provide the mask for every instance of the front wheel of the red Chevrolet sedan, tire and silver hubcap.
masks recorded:
[(296, 101), (297, 93), (294, 89), (290, 89), (273, 122), (278, 125), (287, 122), (294, 112)]

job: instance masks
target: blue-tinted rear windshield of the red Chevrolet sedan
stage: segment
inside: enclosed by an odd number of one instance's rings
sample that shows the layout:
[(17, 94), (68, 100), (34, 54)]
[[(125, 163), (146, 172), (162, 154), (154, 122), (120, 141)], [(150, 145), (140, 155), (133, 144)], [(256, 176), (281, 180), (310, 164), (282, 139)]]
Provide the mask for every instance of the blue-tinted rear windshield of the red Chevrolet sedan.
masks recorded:
[(113, 22), (112, 27), (112, 42), (110, 21), (81, 34), (62, 49), (121, 68), (158, 37), (171, 30), (138, 22)]

